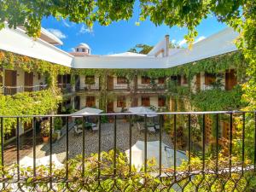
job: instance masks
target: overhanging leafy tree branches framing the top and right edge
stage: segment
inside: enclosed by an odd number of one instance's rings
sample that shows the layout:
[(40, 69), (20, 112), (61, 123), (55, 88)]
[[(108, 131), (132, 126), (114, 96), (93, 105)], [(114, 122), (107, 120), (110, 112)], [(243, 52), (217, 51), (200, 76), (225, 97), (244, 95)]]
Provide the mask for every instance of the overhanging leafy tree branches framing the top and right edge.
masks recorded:
[[(87, 26), (99, 22), (108, 26), (113, 21), (129, 20), (133, 14), (135, 0), (1, 0), (0, 25), (8, 21), (9, 27), (24, 25), (28, 35), (38, 37), (41, 20), (53, 16), (68, 19)], [(245, 84), (245, 98), (256, 108), (256, 2), (255, 0), (140, 0), (140, 20), (149, 18), (156, 26), (187, 27), (185, 35), (189, 47), (197, 36), (196, 26), (215, 15), (220, 22), (241, 33), (237, 46), (249, 63), (247, 70), (251, 79)]]

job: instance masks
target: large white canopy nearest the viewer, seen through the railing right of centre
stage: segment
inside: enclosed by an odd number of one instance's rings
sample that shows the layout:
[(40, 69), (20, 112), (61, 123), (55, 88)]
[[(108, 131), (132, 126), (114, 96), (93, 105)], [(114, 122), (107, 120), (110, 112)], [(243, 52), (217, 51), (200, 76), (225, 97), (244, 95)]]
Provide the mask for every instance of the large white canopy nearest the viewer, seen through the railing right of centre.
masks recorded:
[[(143, 167), (144, 164), (144, 142), (143, 141), (137, 141), (132, 147), (131, 147), (131, 164), (137, 168), (137, 170), (140, 170)], [(130, 158), (130, 149), (125, 151), (126, 155), (128, 156), (128, 159)], [(173, 148), (169, 147), (165, 143), (162, 143), (161, 146), (161, 165), (162, 168), (169, 168), (174, 166), (174, 150)], [(154, 142), (147, 142), (147, 158), (148, 160), (154, 159), (156, 161), (156, 166), (159, 166), (159, 160), (160, 160), (160, 141), (154, 141)], [(183, 160), (188, 160), (188, 157), (183, 151), (176, 150), (176, 166), (180, 166), (182, 164)]]

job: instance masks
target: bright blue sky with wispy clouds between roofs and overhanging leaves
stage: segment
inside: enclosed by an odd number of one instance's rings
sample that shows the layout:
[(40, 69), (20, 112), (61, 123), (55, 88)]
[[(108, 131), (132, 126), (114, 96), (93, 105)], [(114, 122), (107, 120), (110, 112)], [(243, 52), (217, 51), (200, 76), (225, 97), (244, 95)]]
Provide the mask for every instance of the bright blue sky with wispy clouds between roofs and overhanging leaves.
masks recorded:
[[(72, 51), (79, 43), (89, 44), (91, 54), (107, 55), (125, 52), (136, 44), (157, 44), (166, 34), (170, 35), (170, 40), (176, 44), (183, 44), (183, 36), (187, 30), (177, 26), (154, 26), (149, 20), (136, 25), (137, 15), (131, 20), (114, 22), (109, 26), (100, 26), (95, 23), (92, 30), (84, 24), (74, 24), (68, 20), (55, 20), (55, 18), (45, 18), (42, 26), (61, 38), (63, 45), (61, 49)], [(226, 26), (218, 23), (216, 18), (209, 17), (202, 20), (201, 25), (197, 27), (199, 32), (197, 39), (207, 38), (213, 33), (219, 32)]]

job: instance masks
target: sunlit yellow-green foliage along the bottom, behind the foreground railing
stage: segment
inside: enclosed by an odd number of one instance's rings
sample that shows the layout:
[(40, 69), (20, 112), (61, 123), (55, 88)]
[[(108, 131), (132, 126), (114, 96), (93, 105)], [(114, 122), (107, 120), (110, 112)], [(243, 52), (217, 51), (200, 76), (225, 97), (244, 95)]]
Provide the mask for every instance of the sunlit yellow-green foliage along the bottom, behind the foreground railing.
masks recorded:
[[(233, 172), (231, 175), (229, 172), (222, 172), (218, 174), (216, 179), (215, 172), (216, 163), (215, 160), (205, 161), (205, 172), (202, 174), (202, 160), (198, 157), (191, 156), (190, 164), (183, 160), (181, 166), (177, 166), (176, 177), (173, 176), (173, 167), (162, 168), (164, 177), (155, 177), (158, 175), (158, 166), (154, 159), (147, 161), (147, 173), (144, 173), (144, 169), (136, 169), (134, 166), (129, 166), (129, 160), (125, 153), (117, 151), (114, 154), (113, 150), (109, 152), (102, 152), (99, 160), (98, 154), (90, 154), (85, 157), (84, 161), (82, 155), (78, 155), (73, 159), (67, 161), (68, 166), (68, 184), (63, 183), (63, 179), (66, 179), (66, 166), (55, 167), (53, 164), (51, 172), (55, 179), (53, 188), (56, 191), (63, 191), (64, 189), (79, 191), (179, 191), (179, 188), (174, 187), (172, 184), (177, 183), (183, 187), (184, 192), (190, 191), (249, 191), (255, 187), (255, 176), (252, 172)], [(115, 160), (114, 160), (115, 157)], [(218, 170), (223, 171), (229, 166), (229, 158), (220, 154), (218, 156), (219, 164)], [(237, 161), (236, 157), (232, 157), (232, 161)], [(115, 166), (113, 166), (115, 162)], [(250, 165), (251, 162), (245, 161), (245, 166)], [(82, 165), (84, 164), (84, 172)], [(99, 167), (101, 174), (99, 176)], [(1, 175), (5, 176), (6, 180), (14, 179), (14, 170), (16, 165), (0, 167)], [(25, 181), (22, 189), (37, 189), (41, 191), (49, 190), (49, 166), (37, 166), (36, 177), (33, 177), (32, 167), (22, 168), (20, 167), (20, 180)], [(194, 172), (189, 175), (190, 172)], [(115, 172), (115, 174), (113, 173)], [(197, 172), (197, 173), (196, 173)], [(106, 177), (108, 176), (108, 177)], [(225, 183), (225, 184), (224, 184)], [(173, 187), (172, 187), (173, 186)], [(6, 188), (10, 191), (13, 185), (8, 185)], [(253, 191), (253, 190), (252, 190)]]

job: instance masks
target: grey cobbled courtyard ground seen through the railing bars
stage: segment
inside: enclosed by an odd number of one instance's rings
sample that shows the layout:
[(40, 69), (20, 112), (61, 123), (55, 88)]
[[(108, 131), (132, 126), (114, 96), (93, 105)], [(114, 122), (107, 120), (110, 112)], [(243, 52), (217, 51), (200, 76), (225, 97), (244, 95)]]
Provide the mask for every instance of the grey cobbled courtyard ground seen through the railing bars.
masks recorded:
[[(114, 134), (113, 123), (102, 124), (102, 137), (101, 148), (102, 151), (108, 151), (113, 148)], [(132, 127), (132, 145), (137, 143), (138, 140), (144, 141), (144, 132), (137, 131), (137, 127)], [(159, 141), (159, 133), (148, 134), (148, 141)], [(162, 133), (162, 141), (166, 145), (172, 146), (172, 139), (166, 134)], [(69, 158), (73, 158), (77, 154), (82, 154), (83, 135), (79, 136), (74, 134), (73, 129), (69, 131)], [(85, 154), (97, 153), (98, 151), (98, 131), (85, 131)], [(123, 122), (123, 120), (117, 121), (117, 148), (121, 151), (129, 149), (129, 123)], [(53, 154), (57, 154), (60, 161), (66, 159), (66, 136), (62, 137), (53, 146)], [(47, 151), (46, 155), (49, 155)]]

